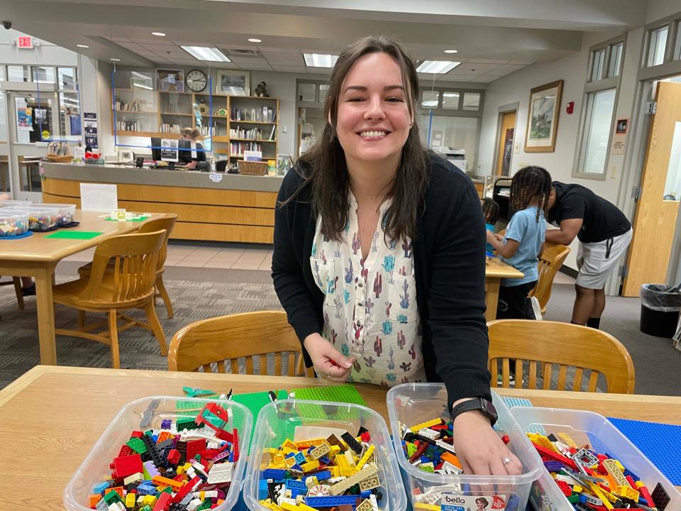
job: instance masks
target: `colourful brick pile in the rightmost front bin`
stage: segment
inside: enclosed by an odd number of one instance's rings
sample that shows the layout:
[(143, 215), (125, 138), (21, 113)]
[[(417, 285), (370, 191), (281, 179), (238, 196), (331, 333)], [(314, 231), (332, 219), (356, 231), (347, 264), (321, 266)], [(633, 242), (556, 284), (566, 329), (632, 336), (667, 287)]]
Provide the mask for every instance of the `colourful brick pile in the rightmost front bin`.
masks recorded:
[(607, 453), (579, 446), (564, 432), (528, 433), (544, 466), (579, 511), (665, 511), (669, 496), (658, 484), (652, 493), (636, 474)]

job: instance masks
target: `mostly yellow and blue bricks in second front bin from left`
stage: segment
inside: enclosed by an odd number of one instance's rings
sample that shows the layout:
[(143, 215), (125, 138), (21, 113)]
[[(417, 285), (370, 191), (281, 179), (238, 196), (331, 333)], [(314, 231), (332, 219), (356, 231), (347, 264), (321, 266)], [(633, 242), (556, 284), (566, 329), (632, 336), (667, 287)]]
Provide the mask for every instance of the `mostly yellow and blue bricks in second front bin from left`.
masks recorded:
[(273, 511), (378, 511), (379, 469), (371, 436), (360, 428), (326, 439), (291, 441), (269, 449), (260, 476), (259, 498)]

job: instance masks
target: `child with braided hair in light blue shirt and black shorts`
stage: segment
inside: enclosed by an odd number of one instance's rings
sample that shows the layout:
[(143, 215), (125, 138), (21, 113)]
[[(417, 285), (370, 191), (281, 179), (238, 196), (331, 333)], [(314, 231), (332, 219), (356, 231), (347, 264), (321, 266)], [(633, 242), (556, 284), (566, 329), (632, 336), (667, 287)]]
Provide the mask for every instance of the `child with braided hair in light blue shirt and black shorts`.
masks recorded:
[(536, 319), (528, 292), (539, 278), (538, 258), (546, 234), (546, 212), (551, 176), (541, 167), (524, 167), (511, 182), (510, 207), (515, 211), (506, 234), (487, 233), (505, 263), (524, 273), (523, 278), (504, 279), (499, 288), (497, 319)]

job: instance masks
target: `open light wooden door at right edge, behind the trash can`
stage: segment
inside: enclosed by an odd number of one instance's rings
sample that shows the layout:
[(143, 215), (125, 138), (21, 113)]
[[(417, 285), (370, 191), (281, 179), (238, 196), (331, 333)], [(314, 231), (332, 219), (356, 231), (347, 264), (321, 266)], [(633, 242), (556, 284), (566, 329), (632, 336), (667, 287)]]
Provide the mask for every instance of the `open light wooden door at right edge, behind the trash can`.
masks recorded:
[[(681, 177), (677, 176), (679, 162), (670, 166), (672, 146), (681, 144), (681, 83), (658, 82), (657, 87), (657, 111), (650, 123), (641, 198), (636, 204), (626, 263), (629, 271), (622, 290), (629, 297), (638, 296), (641, 284), (666, 282), (681, 199), (674, 189)], [(674, 173), (673, 183), (668, 183), (668, 171)]]

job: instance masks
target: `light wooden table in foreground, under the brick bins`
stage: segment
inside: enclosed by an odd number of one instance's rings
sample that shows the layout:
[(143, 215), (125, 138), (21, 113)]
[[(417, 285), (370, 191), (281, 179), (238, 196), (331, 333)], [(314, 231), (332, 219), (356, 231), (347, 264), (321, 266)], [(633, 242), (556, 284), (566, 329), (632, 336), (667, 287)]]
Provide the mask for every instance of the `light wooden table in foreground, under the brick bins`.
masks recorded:
[[(333, 383), (275, 376), (36, 366), (0, 390), (0, 445), (5, 459), (16, 460), (11, 465), (16, 470), (5, 470), (0, 478), (0, 509), (14, 509), (17, 502), (22, 502), (22, 509), (34, 511), (64, 509), (64, 488), (118, 410), (139, 397), (181, 396), (184, 385), (243, 393)], [(355, 386), (387, 421), (386, 390)], [(535, 406), (681, 424), (681, 397), (495, 390), (499, 395), (526, 397)]]

